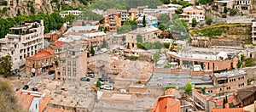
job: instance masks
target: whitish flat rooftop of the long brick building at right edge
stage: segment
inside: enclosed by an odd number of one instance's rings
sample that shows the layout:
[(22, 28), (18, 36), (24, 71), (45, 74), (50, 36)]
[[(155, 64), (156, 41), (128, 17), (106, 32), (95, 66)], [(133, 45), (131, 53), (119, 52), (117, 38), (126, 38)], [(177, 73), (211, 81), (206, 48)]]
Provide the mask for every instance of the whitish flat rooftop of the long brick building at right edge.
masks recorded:
[(217, 78), (221, 78), (221, 77), (233, 77), (233, 76), (242, 76), (242, 75), (246, 75), (247, 72), (245, 70), (229, 70), (229, 71), (224, 71), (224, 72), (220, 72), (220, 73), (214, 73), (214, 76), (216, 76)]

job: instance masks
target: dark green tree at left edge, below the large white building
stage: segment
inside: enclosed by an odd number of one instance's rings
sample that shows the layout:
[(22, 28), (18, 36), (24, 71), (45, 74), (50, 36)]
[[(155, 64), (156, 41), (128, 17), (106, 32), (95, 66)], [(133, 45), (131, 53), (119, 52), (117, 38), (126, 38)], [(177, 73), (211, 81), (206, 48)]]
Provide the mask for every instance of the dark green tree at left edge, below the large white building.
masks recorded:
[(9, 55), (4, 56), (0, 59), (0, 75), (8, 77), (12, 75), (12, 63)]

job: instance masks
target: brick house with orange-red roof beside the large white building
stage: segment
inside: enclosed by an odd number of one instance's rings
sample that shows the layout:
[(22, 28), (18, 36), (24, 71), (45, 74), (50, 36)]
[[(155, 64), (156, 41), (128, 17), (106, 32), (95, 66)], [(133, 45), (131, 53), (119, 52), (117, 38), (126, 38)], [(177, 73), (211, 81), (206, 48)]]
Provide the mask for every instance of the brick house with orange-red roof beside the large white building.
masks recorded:
[(26, 57), (26, 74), (32, 73), (33, 76), (53, 69), (55, 62), (53, 49), (44, 48), (31, 57)]

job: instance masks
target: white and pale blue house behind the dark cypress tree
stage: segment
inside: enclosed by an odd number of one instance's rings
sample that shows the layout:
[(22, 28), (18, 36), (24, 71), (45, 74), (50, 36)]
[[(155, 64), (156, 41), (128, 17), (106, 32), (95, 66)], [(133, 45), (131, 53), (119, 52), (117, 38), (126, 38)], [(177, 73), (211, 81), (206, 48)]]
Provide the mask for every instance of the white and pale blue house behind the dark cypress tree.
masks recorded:
[[(147, 26), (154, 26), (157, 27), (158, 25), (158, 20), (156, 17), (150, 15), (150, 14), (144, 14), (143, 16), (145, 16), (145, 20), (146, 20), (146, 25)], [(143, 26), (143, 16), (138, 17), (138, 19), (136, 20), (137, 25), (139, 26)]]

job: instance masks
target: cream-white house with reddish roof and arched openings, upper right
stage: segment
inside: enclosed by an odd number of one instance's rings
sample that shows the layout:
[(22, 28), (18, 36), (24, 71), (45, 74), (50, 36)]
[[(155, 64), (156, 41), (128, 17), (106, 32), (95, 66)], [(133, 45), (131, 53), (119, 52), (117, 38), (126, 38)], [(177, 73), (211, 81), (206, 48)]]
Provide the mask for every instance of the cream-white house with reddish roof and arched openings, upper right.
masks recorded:
[(189, 24), (195, 18), (197, 22), (205, 20), (205, 10), (201, 6), (189, 6), (183, 8), (183, 14), (179, 14), (179, 18), (185, 20)]

